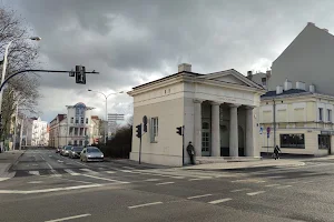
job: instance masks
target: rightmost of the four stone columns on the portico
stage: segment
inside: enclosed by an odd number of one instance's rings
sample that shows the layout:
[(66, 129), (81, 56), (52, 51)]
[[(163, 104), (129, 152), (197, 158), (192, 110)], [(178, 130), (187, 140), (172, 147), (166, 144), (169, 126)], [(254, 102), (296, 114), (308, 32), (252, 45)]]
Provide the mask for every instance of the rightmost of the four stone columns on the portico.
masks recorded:
[(246, 107), (246, 157), (254, 157), (254, 123), (253, 123), (253, 107)]

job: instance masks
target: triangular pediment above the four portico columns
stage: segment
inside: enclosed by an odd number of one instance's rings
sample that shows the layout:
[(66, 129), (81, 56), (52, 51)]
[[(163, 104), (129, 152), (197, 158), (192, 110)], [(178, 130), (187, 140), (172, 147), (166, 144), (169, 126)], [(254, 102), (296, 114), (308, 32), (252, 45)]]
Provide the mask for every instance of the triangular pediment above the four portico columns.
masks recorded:
[(261, 85), (256, 84), (255, 82), (247, 79), (245, 75), (243, 75), (242, 73), (239, 73), (238, 71), (236, 71), (234, 69), (220, 71), (220, 72), (214, 72), (214, 73), (200, 75), (198, 78), (205, 79), (205, 80), (217, 81), (217, 82), (225, 82), (225, 83), (263, 89)]

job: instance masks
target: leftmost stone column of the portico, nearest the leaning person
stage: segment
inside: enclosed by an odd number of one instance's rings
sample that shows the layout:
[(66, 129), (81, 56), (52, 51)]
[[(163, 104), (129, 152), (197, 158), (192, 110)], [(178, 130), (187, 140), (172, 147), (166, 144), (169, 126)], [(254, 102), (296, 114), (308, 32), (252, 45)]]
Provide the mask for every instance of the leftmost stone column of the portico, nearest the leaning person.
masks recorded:
[(203, 100), (194, 100), (194, 147), (196, 157), (202, 157), (202, 102)]

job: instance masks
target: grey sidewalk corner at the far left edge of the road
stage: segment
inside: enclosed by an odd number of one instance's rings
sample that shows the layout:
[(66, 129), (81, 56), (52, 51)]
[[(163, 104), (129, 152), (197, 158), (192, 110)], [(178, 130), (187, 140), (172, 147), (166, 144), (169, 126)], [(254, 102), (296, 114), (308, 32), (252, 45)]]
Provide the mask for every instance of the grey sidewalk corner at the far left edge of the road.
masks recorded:
[(0, 153), (0, 181), (1, 178), (12, 178), (13, 173), (9, 173), (8, 170), (14, 164), (18, 159), (24, 153), (24, 150), (6, 151)]

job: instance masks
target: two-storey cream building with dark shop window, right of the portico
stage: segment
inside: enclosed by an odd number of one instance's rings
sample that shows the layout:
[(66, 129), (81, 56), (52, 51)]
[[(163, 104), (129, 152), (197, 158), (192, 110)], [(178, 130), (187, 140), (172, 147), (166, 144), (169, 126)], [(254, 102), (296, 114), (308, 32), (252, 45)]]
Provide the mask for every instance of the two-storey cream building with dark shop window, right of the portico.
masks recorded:
[(334, 97), (318, 93), (313, 84), (306, 85), (285, 80), (261, 97), (258, 141), (263, 153), (273, 152), (275, 144), (289, 154), (334, 153)]

